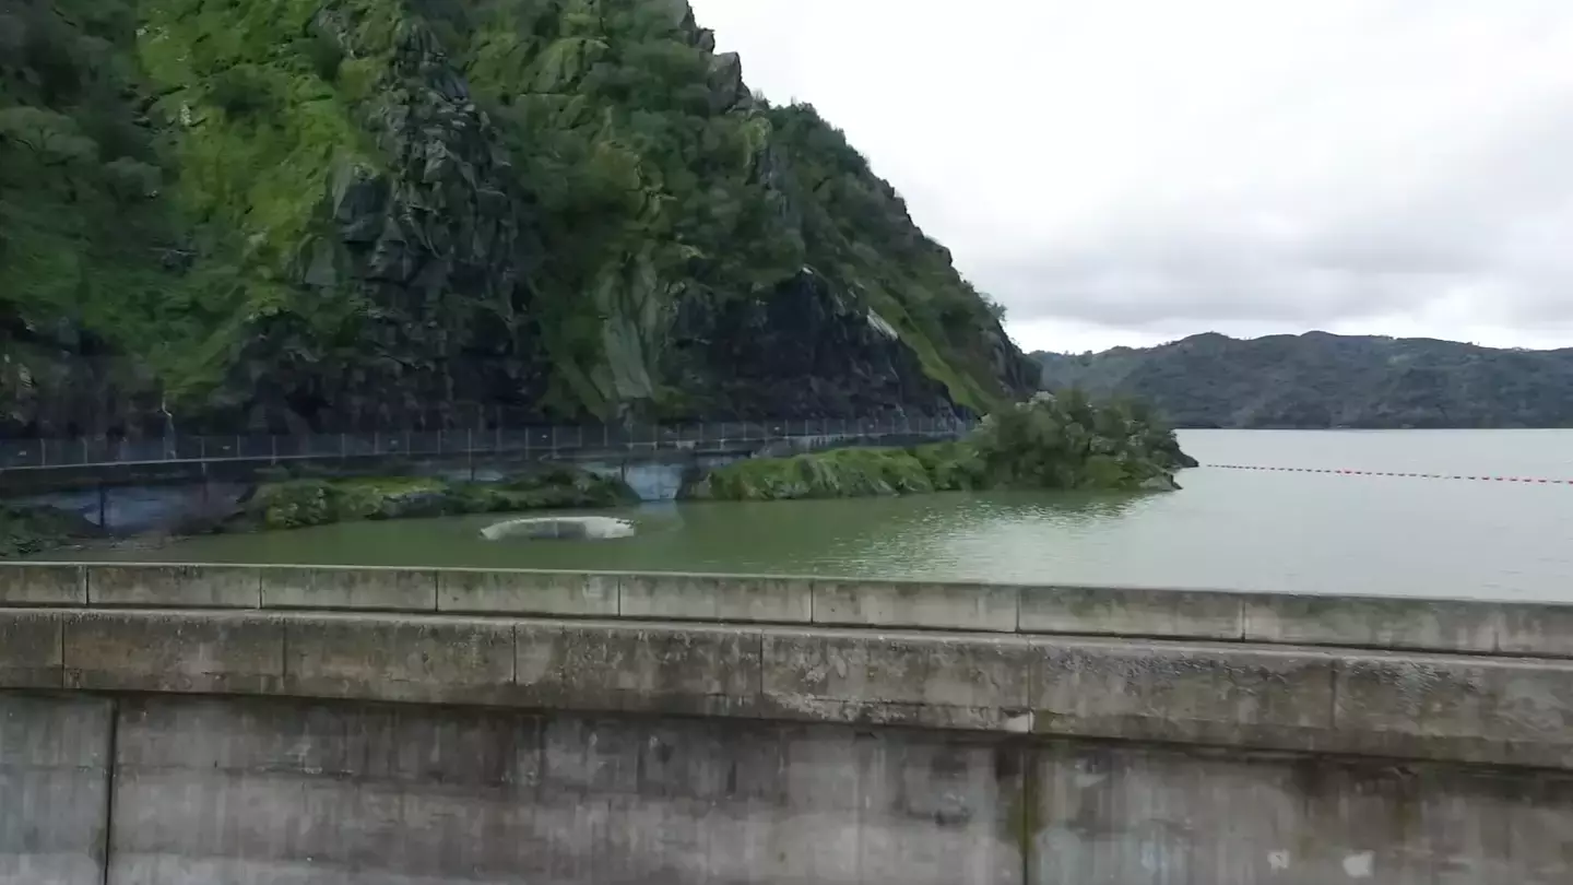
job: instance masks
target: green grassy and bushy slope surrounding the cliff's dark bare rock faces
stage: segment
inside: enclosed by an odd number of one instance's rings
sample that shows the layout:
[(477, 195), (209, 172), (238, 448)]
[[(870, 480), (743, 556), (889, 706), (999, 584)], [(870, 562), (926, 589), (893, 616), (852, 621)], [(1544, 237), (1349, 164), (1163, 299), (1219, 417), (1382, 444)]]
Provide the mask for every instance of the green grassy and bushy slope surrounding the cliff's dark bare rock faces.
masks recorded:
[[(676, 298), (746, 296), (804, 265), (895, 326), (958, 402), (994, 405), (997, 324), (949, 255), (812, 109), (717, 107), (683, 11), (0, 0), (27, 22), (27, 46), (0, 52), (0, 318), (74, 318), (189, 403), (245, 395), (223, 384), (267, 317), (297, 317), (313, 350), (352, 346), (373, 305), (304, 294), (302, 249), (338, 170), (385, 167), (363, 117), (400, 28), (429, 27), (538, 200), (560, 411), (659, 400)], [(0, 367), (0, 408), (25, 383)]]

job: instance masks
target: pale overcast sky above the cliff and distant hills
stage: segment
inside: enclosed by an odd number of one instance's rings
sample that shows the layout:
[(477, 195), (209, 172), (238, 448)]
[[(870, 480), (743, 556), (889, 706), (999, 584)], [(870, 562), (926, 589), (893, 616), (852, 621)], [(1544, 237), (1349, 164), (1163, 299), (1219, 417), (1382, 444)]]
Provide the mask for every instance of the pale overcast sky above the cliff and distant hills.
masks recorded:
[(1573, 345), (1570, 0), (691, 0), (1029, 350)]

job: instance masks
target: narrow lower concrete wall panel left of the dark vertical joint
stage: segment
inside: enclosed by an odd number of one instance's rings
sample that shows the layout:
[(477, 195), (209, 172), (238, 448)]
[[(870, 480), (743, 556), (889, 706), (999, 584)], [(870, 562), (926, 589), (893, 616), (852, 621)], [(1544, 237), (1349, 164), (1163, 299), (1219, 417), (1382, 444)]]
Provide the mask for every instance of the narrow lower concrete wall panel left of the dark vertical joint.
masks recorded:
[(0, 885), (102, 885), (109, 701), (0, 693)]

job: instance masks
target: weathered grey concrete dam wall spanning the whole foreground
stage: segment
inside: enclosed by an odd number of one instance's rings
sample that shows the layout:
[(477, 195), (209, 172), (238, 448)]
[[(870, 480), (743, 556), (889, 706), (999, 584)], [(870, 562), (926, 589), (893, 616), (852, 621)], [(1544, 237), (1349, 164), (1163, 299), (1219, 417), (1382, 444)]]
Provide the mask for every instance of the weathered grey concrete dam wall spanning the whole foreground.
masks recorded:
[(0, 883), (1565, 883), (1567, 614), (0, 567)]

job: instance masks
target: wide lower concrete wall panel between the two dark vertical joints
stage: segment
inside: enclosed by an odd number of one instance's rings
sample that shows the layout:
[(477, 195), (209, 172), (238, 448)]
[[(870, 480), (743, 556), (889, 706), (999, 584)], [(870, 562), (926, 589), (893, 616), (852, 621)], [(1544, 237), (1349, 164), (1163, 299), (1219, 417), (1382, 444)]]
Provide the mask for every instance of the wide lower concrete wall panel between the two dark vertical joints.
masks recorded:
[(1011, 885), (1016, 753), (834, 726), (127, 699), (110, 880)]

